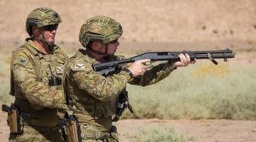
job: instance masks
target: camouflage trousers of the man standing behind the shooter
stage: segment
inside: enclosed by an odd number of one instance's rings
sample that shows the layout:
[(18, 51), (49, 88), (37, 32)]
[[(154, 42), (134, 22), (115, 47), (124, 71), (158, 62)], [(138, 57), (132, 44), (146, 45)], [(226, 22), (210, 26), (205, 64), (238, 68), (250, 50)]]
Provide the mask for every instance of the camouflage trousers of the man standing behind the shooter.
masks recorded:
[(9, 142), (61, 142), (60, 128), (46, 128), (25, 124), (22, 134), (9, 134)]

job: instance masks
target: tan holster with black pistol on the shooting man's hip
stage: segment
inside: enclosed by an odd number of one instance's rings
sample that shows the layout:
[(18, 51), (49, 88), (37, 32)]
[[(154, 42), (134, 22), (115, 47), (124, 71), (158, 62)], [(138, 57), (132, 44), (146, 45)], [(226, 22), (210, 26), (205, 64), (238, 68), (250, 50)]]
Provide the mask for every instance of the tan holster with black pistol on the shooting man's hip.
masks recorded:
[(73, 115), (66, 115), (58, 121), (61, 126), (63, 139), (67, 142), (81, 142), (81, 129), (78, 119)]

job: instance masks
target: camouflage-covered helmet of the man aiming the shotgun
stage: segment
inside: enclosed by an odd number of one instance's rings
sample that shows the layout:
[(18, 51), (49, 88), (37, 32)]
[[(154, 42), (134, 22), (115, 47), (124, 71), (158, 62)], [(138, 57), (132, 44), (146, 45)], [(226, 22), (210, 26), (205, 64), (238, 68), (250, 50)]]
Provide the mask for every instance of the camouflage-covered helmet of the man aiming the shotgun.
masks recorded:
[(80, 29), (79, 42), (87, 48), (91, 41), (109, 43), (122, 36), (122, 26), (110, 17), (99, 15), (85, 20)]

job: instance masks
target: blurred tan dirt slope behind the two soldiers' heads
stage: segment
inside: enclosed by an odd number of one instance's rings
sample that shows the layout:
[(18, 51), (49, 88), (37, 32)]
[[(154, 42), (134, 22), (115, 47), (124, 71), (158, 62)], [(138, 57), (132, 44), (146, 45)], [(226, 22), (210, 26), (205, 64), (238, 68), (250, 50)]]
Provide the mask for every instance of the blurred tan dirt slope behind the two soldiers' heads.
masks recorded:
[[(56, 43), (64, 44), (64, 48), (81, 47), (79, 30), (84, 20), (104, 14), (123, 26), (120, 42), (125, 48), (120, 46), (120, 50), (141, 43), (147, 46), (135, 49), (183, 50), (191, 43), (202, 44), (197, 48), (206, 48), (203, 43), (209, 43), (210, 48), (251, 49), (256, 39), (255, 5), (254, 0), (2, 0), (1, 47), (15, 44), (16, 48), (24, 42), (27, 14), (38, 7), (49, 7), (61, 15)], [(158, 44), (153, 47), (151, 43)]]

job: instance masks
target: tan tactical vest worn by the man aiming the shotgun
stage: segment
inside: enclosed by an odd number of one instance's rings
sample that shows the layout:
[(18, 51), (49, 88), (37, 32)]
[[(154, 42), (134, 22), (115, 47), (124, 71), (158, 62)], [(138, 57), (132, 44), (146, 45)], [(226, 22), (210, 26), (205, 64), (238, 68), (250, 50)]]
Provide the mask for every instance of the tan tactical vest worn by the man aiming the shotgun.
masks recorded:
[[(66, 70), (69, 70), (67, 67), (69, 67), (74, 60), (92, 61), (87, 55), (77, 53), (64, 65), (65, 73), (63, 74), (63, 86), (65, 88), (65, 94), (68, 98), (70, 109), (74, 111), (74, 114), (79, 118), (79, 121), (90, 122), (100, 129), (110, 129), (112, 126), (112, 116), (116, 109), (116, 99), (113, 99), (110, 102), (99, 101), (80, 89), (76, 82), (73, 81), (72, 77), (67, 77), (73, 73)], [(111, 60), (117, 59), (115, 57), (115, 59)], [(68, 73), (68, 75), (66, 73)]]

